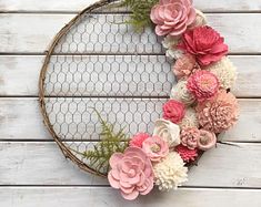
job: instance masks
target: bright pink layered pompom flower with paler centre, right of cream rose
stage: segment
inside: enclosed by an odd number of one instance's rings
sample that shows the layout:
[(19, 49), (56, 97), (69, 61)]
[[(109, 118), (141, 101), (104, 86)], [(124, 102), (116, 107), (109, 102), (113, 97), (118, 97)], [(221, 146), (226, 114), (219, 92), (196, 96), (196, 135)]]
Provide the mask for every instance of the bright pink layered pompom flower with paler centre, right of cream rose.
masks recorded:
[(202, 102), (217, 94), (219, 80), (209, 71), (198, 71), (188, 79), (187, 87), (199, 102)]

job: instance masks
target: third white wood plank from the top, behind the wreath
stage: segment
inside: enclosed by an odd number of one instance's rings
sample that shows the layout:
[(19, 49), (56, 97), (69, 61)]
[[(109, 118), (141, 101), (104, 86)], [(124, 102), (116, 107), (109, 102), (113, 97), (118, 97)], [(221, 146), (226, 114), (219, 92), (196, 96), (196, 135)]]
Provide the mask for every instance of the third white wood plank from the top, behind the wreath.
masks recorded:
[[(97, 56), (97, 59), (99, 59), (99, 56)], [(104, 62), (108, 62), (108, 59), (110, 59), (110, 56), (109, 58), (101, 56), (101, 60), (103, 60)], [(114, 56), (112, 56), (111, 59), (112, 59), (111, 63), (113, 63)], [(119, 56), (118, 59), (122, 59), (122, 56)], [(126, 56), (126, 59), (130, 59), (130, 58)], [(158, 61), (157, 58), (152, 58), (152, 59), (154, 59), (154, 61)], [(163, 59), (164, 58), (162, 56), (161, 60)], [(261, 90), (260, 90), (261, 89), (261, 82), (260, 82), (261, 56), (235, 55), (235, 56), (230, 56), (230, 59), (234, 63), (234, 65), (238, 68), (238, 72), (239, 72), (238, 80), (233, 89), (233, 93), (238, 97), (242, 97), (242, 96), (243, 97), (260, 97), (261, 96)], [(0, 95), (37, 96), (38, 95), (38, 79), (39, 79), (39, 73), (40, 73), (40, 69), (42, 65), (42, 60), (43, 60), (42, 55), (2, 55), (0, 56)], [(143, 59), (140, 59), (140, 60), (143, 60)], [(149, 59), (144, 56), (144, 60), (149, 60)], [(139, 65), (135, 65), (137, 62)], [(137, 61), (137, 62), (134, 62), (134, 66), (137, 66), (138, 69), (142, 68), (142, 70), (137, 70), (137, 74), (134, 75), (137, 79), (135, 81), (139, 81), (141, 79), (140, 75), (144, 71), (143, 66), (150, 66), (150, 64), (143, 65), (143, 63), (141, 64), (140, 61)], [(161, 63), (162, 61), (159, 62), (159, 64)], [(126, 65), (121, 65), (121, 66), (126, 66)], [(101, 64), (97, 64), (97, 68), (94, 69), (97, 71), (100, 71), (102, 70), (101, 66), (102, 66)], [(165, 66), (169, 68), (167, 63), (165, 63)], [(111, 68), (114, 68), (114, 65), (108, 64), (107, 68), (111, 70)], [(122, 76), (122, 74), (120, 75)], [(164, 74), (162, 73), (162, 75)], [(165, 79), (164, 76), (162, 77), (163, 80)], [(170, 74), (170, 77), (173, 79), (173, 75)], [(128, 74), (124, 74), (124, 79), (126, 80), (128, 79)], [(86, 87), (86, 85), (83, 86)], [(110, 90), (108, 91), (108, 94), (119, 95), (119, 96), (128, 95), (124, 93), (124, 89), (128, 87), (128, 85), (121, 85), (121, 87), (122, 87), (122, 91), (120, 92), (118, 91), (116, 93), (114, 91)], [(137, 83), (134, 83), (134, 89), (137, 89)], [(151, 95), (152, 90), (153, 90), (154, 95), (155, 94), (160, 95), (162, 93), (165, 93), (165, 95), (168, 95), (167, 93), (169, 93), (170, 91), (169, 86), (168, 86), (168, 90), (165, 89), (167, 90), (165, 91), (159, 87), (154, 87), (154, 85), (151, 85), (151, 84), (148, 84), (147, 89), (148, 91), (142, 92), (142, 93), (140, 93), (139, 90), (134, 90), (132, 95), (135, 95), (135, 96)], [(90, 93), (83, 91), (81, 95), (83, 96), (90, 95)]]

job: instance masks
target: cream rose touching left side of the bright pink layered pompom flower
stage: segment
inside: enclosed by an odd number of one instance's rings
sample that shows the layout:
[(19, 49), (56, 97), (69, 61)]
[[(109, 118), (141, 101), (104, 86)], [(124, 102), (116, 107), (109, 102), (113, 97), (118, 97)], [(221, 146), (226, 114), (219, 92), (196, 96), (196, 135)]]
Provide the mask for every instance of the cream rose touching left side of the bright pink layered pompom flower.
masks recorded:
[(182, 102), (183, 104), (191, 105), (194, 103), (194, 96), (187, 89), (187, 81), (179, 81), (171, 90), (170, 99)]

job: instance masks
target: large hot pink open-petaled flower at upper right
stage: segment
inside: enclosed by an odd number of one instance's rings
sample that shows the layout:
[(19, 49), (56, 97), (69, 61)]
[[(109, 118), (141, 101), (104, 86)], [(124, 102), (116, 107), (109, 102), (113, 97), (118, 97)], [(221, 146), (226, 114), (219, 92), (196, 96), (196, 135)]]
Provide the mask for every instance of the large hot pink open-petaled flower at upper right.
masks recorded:
[(210, 27), (203, 25), (188, 30), (182, 35), (179, 49), (195, 56), (200, 65), (205, 66), (218, 62), (228, 53), (224, 39)]

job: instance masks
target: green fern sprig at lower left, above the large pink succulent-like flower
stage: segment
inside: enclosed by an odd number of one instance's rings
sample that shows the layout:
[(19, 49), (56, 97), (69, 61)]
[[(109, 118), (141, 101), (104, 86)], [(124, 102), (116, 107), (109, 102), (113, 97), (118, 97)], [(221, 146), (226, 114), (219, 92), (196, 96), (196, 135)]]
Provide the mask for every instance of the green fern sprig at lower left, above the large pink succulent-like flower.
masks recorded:
[[(96, 110), (94, 110), (96, 111)], [(82, 156), (90, 161), (90, 166), (98, 172), (109, 172), (109, 159), (116, 152), (123, 153), (128, 147), (129, 138), (121, 128), (114, 133), (114, 125), (102, 120), (98, 111), (96, 111), (101, 123), (102, 132), (100, 134), (101, 142), (97, 143), (93, 149), (82, 153)]]

